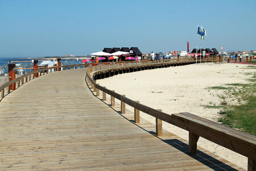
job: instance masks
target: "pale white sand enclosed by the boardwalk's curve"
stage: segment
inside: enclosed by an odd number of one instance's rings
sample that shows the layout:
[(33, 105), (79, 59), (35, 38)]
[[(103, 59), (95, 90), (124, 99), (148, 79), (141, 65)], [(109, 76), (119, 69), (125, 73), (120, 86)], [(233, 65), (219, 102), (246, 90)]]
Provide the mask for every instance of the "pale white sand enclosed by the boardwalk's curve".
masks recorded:
[[(119, 74), (104, 80), (97, 80), (101, 86), (115, 90), (119, 94), (154, 109), (162, 109), (168, 114), (190, 112), (206, 119), (217, 121), (220, 109), (204, 106), (220, 105), (223, 99), (217, 96), (224, 90), (212, 90), (207, 87), (226, 86), (226, 84), (246, 83), (255, 70), (242, 64), (193, 64), (141, 72)], [(249, 74), (250, 73), (250, 74)], [(228, 103), (237, 103), (225, 99)], [(155, 119), (144, 114), (143, 118), (155, 123)], [(188, 132), (164, 123), (163, 128), (188, 139)], [(229, 149), (199, 138), (198, 145), (216, 155), (247, 169), (247, 157)]]

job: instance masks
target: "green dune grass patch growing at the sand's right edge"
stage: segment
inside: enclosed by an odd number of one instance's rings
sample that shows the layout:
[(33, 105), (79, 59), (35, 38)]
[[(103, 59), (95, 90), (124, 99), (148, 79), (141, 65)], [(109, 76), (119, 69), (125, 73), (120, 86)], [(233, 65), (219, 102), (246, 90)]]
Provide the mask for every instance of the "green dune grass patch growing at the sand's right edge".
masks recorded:
[[(256, 79), (250, 79), (250, 84), (229, 84), (234, 86), (228, 89), (227, 94), (232, 94), (235, 98), (245, 101), (241, 105), (228, 105), (222, 103), (221, 118), (218, 122), (239, 130), (245, 131), (249, 134), (256, 135)], [(225, 101), (225, 97), (223, 97)]]

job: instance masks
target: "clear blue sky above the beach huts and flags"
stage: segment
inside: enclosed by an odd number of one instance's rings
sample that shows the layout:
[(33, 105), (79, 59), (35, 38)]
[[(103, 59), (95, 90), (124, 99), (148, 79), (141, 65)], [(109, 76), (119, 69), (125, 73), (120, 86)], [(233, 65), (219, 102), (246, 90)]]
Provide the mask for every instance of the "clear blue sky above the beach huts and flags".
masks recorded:
[(202, 48), (256, 50), (255, 0), (0, 0), (0, 57), (186, 51), (187, 41), (192, 51), (197, 24), (207, 30)]

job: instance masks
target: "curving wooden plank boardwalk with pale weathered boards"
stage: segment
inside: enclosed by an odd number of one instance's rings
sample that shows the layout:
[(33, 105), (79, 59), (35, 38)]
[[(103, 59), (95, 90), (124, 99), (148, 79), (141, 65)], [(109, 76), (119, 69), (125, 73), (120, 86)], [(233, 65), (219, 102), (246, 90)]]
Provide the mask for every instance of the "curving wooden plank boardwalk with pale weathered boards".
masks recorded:
[[(133, 114), (86, 85), (86, 69), (36, 78), (0, 102), (0, 170), (243, 170)], [(100, 97), (101, 98), (101, 97)]]

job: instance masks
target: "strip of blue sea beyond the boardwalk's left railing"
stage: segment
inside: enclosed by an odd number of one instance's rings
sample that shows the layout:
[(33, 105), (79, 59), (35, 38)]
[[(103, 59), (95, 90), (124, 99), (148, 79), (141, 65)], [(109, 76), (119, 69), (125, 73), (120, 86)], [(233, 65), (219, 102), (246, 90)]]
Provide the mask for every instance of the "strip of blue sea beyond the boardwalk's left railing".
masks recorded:
[[(34, 60), (39, 60), (38, 64), (40, 64), (40, 59), (35, 58)], [(51, 60), (51, 59), (49, 59)], [(7, 58), (7, 57), (0, 57), (0, 73), (8, 73), (8, 62), (11, 63), (11, 61), (13, 61), (14, 64), (22, 64), (24, 66), (26, 66), (26, 68), (32, 67), (32, 59), (31, 57), (11, 57), (11, 58)], [(24, 62), (26, 61), (26, 62)], [(73, 59), (61, 59), (61, 64), (62, 65), (73, 65), (73, 64), (82, 64), (81, 62), (82, 60), (79, 59), (77, 60), (77, 58), (73, 58)], [(30, 72), (29, 70), (26, 70), (26, 73)]]

